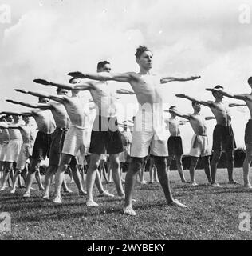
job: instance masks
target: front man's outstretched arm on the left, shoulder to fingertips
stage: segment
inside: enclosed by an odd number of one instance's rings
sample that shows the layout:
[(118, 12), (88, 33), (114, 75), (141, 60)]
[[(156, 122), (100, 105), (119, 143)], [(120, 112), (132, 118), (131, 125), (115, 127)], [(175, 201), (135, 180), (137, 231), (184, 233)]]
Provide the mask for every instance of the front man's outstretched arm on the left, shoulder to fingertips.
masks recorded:
[(77, 71), (70, 72), (69, 75), (74, 78), (89, 78), (98, 81), (113, 80), (117, 82), (130, 82), (130, 80), (133, 78), (131, 73), (112, 74), (108, 72), (99, 72), (93, 74), (83, 74)]

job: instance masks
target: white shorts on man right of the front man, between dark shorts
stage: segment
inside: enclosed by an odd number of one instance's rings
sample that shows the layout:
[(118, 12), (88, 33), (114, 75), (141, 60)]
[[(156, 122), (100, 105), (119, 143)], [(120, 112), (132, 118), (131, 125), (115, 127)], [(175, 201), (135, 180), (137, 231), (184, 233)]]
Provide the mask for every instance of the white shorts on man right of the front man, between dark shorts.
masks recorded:
[(200, 156), (206, 157), (211, 155), (211, 147), (208, 143), (207, 136), (193, 135), (191, 139), (191, 150), (189, 155), (199, 158)]

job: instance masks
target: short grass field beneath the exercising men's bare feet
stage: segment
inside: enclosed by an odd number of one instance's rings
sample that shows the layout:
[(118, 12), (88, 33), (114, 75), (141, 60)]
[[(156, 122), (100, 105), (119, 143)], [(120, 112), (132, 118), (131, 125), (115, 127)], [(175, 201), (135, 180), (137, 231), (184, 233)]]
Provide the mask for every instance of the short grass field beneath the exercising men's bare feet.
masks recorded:
[[(189, 179), (188, 170), (185, 175)], [(10, 213), (11, 232), (0, 232), (0, 239), (251, 239), (252, 226), (240, 231), (238, 216), (248, 212), (252, 218), (252, 191), (226, 184), (226, 177), (226, 170), (218, 170), (222, 188), (192, 187), (171, 171), (174, 197), (187, 209), (167, 206), (159, 184), (137, 184), (136, 217), (121, 214), (124, 202), (118, 198), (95, 198), (100, 206), (87, 208), (73, 184), (74, 193), (63, 194), (61, 206), (42, 201), (38, 190), (30, 199), (22, 198), (23, 189), (14, 195), (7, 190), (0, 194), (0, 212)], [(242, 169), (235, 169), (234, 177), (242, 182)], [(207, 182), (203, 170), (196, 171), (196, 180)], [(104, 187), (116, 194), (113, 183)]]

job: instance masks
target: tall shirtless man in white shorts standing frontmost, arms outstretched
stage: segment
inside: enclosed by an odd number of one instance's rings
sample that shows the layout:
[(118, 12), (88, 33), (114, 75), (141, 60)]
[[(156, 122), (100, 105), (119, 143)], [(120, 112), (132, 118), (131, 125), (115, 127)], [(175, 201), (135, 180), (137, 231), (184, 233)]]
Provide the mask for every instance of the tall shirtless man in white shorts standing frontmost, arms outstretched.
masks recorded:
[[(159, 90), (159, 84), (171, 81), (187, 81), (195, 78), (160, 78), (154, 74), (150, 74), (150, 70), (152, 69), (152, 52), (147, 47), (140, 46), (136, 50), (135, 55), (136, 62), (140, 66), (139, 73), (112, 74), (100, 72), (96, 74), (82, 74), (81, 72), (73, 72), (69, 73), (69, 75), (100, 81), (114, 80), (117, 82), (128, 82), (132, 86), (132, 90), (135, 92), (140, 104), (140, 110), (136, 114), (135, 129), (132, 134), (132, 162), (125, 179), (124, 214), (136, 215), (136, 212), (132, 209), (132, 191), (136, 181), (136, 174), (140, 170), (144, 158), (148, 155), (149, 146), (151, 146), (150, 153), (155, 158), (159, 182), (163, 188), (168, 205), (186, 207), (171, 195), (166, 164), (168, 154), (167, 138), (165, 138), (164, 127), (161, 132), (160, 130), (159, 133), (156, 132), (160, 126), (164, 126), (163, 99)], [(143, 108), (145, 111), (142, 111)], [(146, 118), (142, 119), (144, 114)], [(155, 123), (152, 123), (153, 118)]]

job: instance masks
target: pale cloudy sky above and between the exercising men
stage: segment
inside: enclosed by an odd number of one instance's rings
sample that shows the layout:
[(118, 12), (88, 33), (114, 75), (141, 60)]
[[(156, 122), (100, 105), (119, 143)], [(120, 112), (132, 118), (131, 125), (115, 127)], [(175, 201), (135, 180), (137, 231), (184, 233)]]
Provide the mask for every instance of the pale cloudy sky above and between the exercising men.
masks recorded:
[[(3, 5), (9, 7), (9, 23), (2, 20)], [(152, 50), (153, 73), (202, 77), (163, 85), (164, 102), (180, 112), (191, 113), (191, 102), (175, 94), (212, 100), (205, 88), (217, 84), (231, 93), (250, 93), (246, 81), (252, 67), (252, 24), (241, 22), (243, 14), (252, 15), (250, 9), (249, 0), (0, 0), (0, 108), (27, 110), (5, 102), (36, 100), (14, 88), (54, 94), (53, 87), (37, 85), (33, 79), (67, 82), (70, 71), (94, 72), (104, 59), (114, 72), (138, 72), (134, 54), (139, 45)], [(130, 89), (126, 83), (112, 86)], [(135, 96), (119, 97), (124, 106), (136, 104)], [(120, 111), (119, 119), (126, 110)], [(202, 114), (212, 116), (205, 106)], [(231, 114), (237, 144), (243, 147), (249, 112), (240, 107)], [(207, 122), (210, 141), (214, 126), (215, 120)], [(181, 127), (181, 134), (187, 153), (191, 126)]]

